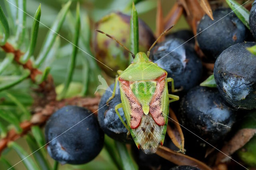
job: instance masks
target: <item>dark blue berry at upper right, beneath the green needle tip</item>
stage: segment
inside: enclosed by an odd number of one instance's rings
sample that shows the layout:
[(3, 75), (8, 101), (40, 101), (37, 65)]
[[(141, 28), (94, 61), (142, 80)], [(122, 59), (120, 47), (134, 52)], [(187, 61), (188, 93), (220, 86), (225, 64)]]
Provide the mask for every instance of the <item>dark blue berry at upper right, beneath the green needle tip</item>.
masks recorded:
[(196, 39), (206, 57), (215, 60), (224, 49), (246, 40), (248, 29), (230, 8), (215, 10), (213, 17), (211, 20), (209, 16), (203, 16)]

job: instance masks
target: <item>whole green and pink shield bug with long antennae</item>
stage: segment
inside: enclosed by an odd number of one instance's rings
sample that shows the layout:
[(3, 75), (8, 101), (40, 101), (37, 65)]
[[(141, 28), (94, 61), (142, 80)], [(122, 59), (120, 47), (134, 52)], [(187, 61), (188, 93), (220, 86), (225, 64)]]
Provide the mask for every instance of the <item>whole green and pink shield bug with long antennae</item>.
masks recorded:
[[(172, 27), (164, 31), (160, 37)], [(99, 30), (96, 31), (114, 39), (124, 47), (114, 37)], [(134, 60), (124, 71), (118, 71), (119, 76), (116, 78), (112, 96), (108, 100), (109, 102), (114, 98), (116, 85), (119, 82), (122, 103), (116, 105), (116, 113), (132, 135), (138, 149), (142, 149), (146, 154), (155, 153), (159, 145), (163, 145), (168, 123), (169, 103), (179, 100), (179, 96), (168, 93), (168, 82), (172, 83), (172, 92), (177, 91), (174, 89), (173, 79), (167, 78), (167, 72), (148, 59), (150, 50), (158, 39), (150, 47), (147, 55), (142, 52), (134, 55), (124, 47), (132, 54)], [(124, 110), (127, 124), (118, 112), (121, 107)]]

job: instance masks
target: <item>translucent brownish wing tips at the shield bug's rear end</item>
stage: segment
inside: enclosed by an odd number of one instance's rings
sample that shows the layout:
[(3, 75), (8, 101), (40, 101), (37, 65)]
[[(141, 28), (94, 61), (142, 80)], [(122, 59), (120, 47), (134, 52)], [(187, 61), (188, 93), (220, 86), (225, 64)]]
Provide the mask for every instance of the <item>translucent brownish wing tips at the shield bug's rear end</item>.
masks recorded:
[(159, 126), (150, 114), (143, 115), (139, 127), (130, 132), (138, 148), (146, 154), (153, 154), (163, 142), (166, 125)]

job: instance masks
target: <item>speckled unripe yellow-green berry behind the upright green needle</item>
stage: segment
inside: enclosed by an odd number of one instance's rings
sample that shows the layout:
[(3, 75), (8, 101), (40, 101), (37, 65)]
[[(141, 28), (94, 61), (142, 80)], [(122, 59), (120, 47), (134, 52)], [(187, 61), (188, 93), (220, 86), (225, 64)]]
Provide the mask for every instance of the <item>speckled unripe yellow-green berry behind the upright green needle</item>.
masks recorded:
[[(139, 51), (146, 52), (154, 43), (155, 38), (150, 28), (142, 21), (139, 23)], [(111, 13), (103, 17), (96, 23), (96, 29), (104, 31), (116, 38), (128, 49), (130, 48), (130, 16), (120, 12)], [(132, 56), (122, 48), (118, 43), (106, 35), (95, 31), (93, 39), (95, 57), (98, 61), (106, 64), (108, 67), (99, 63), (102, 70), (109, 76), (115, 77), (117, 70), (124, 70), (130, 65)]]

